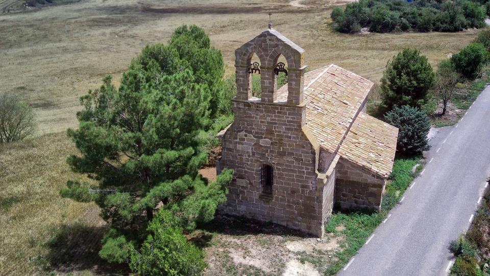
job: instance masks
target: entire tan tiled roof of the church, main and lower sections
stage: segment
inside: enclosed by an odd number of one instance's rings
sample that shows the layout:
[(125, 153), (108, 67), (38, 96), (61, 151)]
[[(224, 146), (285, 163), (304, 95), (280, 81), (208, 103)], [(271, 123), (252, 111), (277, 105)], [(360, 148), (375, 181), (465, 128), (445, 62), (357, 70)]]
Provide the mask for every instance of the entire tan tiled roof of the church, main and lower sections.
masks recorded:
[[(360, 112), (373, 82), (331, 64), (306, 73), (305, 85), (306, 125), (321, 147), (387, 176), (398, 129)], [(287, 85), (277, 92), (277, 101), (287, 100)]]

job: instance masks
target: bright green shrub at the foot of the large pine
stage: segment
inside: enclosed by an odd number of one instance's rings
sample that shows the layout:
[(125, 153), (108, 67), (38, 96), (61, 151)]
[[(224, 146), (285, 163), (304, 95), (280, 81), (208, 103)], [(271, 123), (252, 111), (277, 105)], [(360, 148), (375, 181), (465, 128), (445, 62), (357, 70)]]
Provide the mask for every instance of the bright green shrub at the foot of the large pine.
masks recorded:
[(148, 226), (141, 252), (132, 250), (130, 268), (141, 275), (200, 275), (206, 263), (201, 249), (189, 243), (177, 219), (161, 210)]

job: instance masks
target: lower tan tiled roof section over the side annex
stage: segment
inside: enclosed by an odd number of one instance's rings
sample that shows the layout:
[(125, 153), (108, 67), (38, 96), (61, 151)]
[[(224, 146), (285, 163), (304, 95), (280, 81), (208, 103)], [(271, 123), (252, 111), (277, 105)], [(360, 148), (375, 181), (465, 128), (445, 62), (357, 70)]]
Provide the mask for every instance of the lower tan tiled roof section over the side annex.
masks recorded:
[(338, 153), (342, 158), (387, 177), (393, 168), (398, 128), (360, 112)]

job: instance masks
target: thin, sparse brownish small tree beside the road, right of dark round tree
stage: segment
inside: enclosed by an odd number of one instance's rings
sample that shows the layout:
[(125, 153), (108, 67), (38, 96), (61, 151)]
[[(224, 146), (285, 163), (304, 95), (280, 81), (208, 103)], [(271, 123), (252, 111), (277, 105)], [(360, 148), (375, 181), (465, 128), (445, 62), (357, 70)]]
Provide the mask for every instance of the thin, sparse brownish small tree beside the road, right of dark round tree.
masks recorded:
[(439, 62), (436, 83), (433, 91), (434, 95), (443, 101), (443, 112), (441, 116), (446, 114), (448, 102), (456, 90), (460, 75), (455, 71), (454, 64), (450, 59)]

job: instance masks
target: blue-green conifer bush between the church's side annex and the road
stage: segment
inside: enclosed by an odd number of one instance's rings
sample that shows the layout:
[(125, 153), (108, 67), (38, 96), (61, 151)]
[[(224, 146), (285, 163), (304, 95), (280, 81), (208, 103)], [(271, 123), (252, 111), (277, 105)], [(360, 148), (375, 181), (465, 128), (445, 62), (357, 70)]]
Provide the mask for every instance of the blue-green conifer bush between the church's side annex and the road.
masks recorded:
[(414, 155), (430, 148), (427, 142), (430, 121), (427, 114), (419, 108), (395, 106), (393, 110), (385, 114), (384, 119), (388, 124), (399, 129), (397, 150), (400, 153)]

